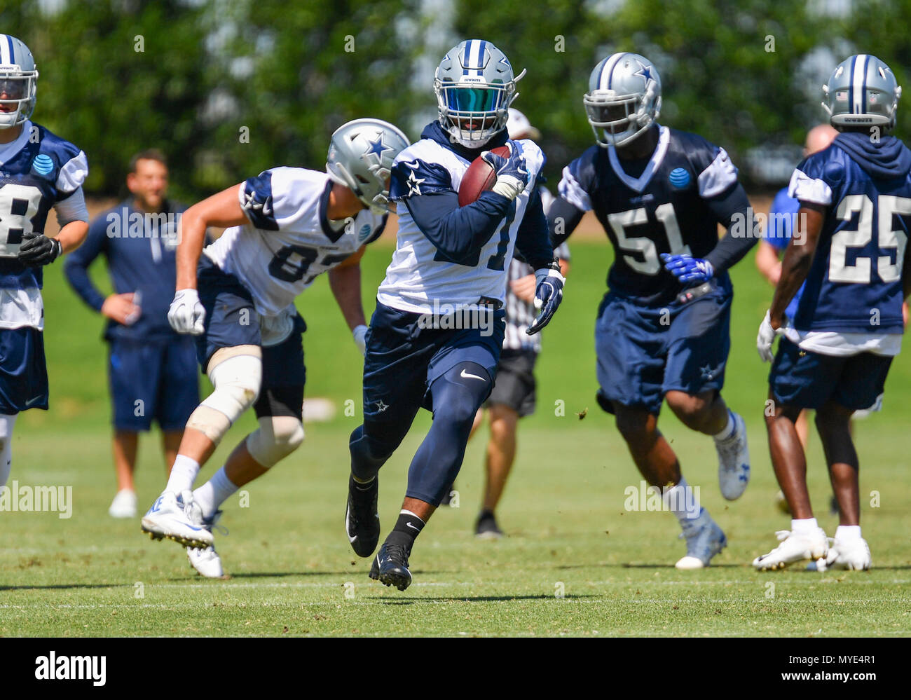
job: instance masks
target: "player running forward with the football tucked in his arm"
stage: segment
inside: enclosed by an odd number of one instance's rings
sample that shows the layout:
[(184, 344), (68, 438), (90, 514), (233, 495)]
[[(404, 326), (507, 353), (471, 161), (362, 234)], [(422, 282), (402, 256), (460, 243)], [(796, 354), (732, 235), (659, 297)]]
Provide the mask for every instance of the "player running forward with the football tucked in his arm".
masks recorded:
[[(432, 410), (433, 427), (408, 470), (402, 510), (369, 573), (400, 591), (412, 580), (415, 538), (455, 480), (477, 409), (493, 386), (514, 250), (537, 277), (540, 313), (528, 334), (548, 324), (562, 298), (564, 280), (536, 186), (544, 154), (531, 140), (507, 139), (507, 109), (523, 75), (514, 75), (488, 41), (469, 39), (450, 49), (435, 73), (438, 118), (393, 167), (398, 241), (367, 333), (363, 425), (350, 440), (345, 530), (355, 553), (374, 553), (377, 472), (418, 408)], [(490, 151), (504, 145), (507, 157)], [(496, 183), (459, 207), (462, 178), (478, 157), (496, 171)]]

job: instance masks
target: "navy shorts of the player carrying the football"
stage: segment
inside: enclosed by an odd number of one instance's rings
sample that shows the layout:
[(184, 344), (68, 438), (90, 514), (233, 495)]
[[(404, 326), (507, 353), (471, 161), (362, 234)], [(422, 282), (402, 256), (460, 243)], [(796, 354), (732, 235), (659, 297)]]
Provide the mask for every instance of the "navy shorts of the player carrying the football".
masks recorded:
[(377, 302), (363, 358), (364, 417), (410, 420), (420, 407), (433, 410), (430, 386), (463, 362), (481, 365), (495, 379), (506, 312), (485, 315), (485, 327), (428, 328), (421, 314)]

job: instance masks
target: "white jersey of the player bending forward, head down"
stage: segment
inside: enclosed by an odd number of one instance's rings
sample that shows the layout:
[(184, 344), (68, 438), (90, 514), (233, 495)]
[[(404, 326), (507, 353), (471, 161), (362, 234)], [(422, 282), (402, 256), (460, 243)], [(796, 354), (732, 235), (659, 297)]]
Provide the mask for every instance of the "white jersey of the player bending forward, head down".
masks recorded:
[(359, 211), (326, 218), (333, 180), (324, 172), (273, 168), (241, 183), (238, 198), (250, 223), (232, 226), (203, 251), (251, 293), (256, 311), (281, 314), (317, 275), (383, 232), (385, 216)]

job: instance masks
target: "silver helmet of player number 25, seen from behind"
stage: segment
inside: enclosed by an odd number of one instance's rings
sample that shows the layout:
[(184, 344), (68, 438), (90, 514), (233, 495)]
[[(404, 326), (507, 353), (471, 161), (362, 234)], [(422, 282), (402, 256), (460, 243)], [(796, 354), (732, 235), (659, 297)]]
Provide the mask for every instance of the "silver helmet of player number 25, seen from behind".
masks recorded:
[(845, 58), (823, 86), (823, 108), (836, 129), (854, 126), (896, 125), (902, 88), (892, 70), (875, 56)]

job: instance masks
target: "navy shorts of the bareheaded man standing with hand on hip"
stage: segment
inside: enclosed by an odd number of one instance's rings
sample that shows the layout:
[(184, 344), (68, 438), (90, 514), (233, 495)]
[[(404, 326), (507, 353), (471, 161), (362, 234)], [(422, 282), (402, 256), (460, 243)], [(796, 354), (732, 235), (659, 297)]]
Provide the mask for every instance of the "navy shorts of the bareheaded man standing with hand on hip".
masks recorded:
[(107, 380), (118, 430), (148, 430), (153, 419), (162, 430), (182, 430), (200, 403), (196, 345), (187, 335), (112, 340)]

